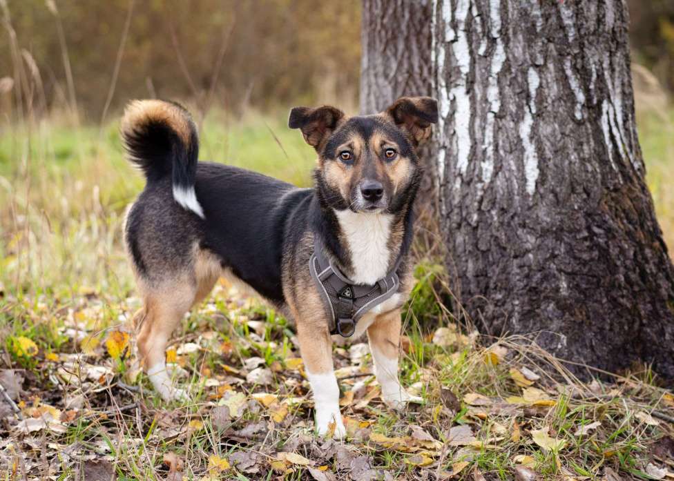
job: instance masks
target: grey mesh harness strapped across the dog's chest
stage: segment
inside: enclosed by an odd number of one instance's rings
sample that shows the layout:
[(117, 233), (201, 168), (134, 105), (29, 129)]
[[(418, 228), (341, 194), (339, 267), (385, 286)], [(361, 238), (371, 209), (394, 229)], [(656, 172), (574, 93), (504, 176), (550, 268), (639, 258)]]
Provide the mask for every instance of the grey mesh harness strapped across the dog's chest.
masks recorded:
[(309, 272), (314, 278), (318, 292), (328, 315), (330, 334), (350, 337), (356, 332), (356, 322), (367, 311), (381, 304), (398, 292), (400, 277), (398, 268), (402, 257), (398, 257), (392, 271), (376, 284), (356, 284), (345, 276), (314, 242), (314, 253), (309, 259)]

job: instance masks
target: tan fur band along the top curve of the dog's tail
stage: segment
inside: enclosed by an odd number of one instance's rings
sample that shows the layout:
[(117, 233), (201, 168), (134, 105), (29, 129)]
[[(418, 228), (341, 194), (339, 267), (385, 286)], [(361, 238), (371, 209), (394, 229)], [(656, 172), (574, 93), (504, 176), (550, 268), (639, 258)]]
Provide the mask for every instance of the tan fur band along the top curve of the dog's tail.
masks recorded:
[(122, 132), (133, 132), (151, 121), (163, 122), (176, 132), (185, 146), (189, 146), (191, 126), (189, 114), (168, 102), (161, 100), (134, 100), (124, 110)]

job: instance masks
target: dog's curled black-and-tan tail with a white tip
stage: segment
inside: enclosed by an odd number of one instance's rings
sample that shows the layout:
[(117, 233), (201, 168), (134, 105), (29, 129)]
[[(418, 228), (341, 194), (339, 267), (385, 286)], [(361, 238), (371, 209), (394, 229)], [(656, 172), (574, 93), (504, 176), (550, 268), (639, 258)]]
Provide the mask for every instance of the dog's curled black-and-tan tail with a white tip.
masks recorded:
[(175, 202), (204, 218), (194, 190), (199, 138), (189, 112), (173, 102), (134, 100), (124, 110), (121, 131), (128, 159), (148, 183), (171, 175)]

